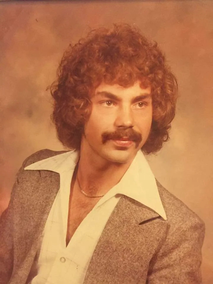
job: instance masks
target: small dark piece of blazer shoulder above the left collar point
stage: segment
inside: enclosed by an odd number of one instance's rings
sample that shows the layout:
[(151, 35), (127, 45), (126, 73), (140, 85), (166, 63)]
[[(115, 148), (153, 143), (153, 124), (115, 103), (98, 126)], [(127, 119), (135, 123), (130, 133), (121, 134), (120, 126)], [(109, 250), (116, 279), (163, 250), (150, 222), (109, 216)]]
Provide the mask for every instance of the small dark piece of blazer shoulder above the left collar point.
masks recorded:
[(25, 161), (24, 161), (24, 166), (27, 167), (30, 164), (34, 164), (35, 162), (59, 155), (59, 154), (63, 154), (66, 153), (68, 151), (53, 151), (53, 150), (49, 150), (49, 149), (42, 149), (39, 150), (35, 153), (33, 153), (32, 155), (28, 156)]

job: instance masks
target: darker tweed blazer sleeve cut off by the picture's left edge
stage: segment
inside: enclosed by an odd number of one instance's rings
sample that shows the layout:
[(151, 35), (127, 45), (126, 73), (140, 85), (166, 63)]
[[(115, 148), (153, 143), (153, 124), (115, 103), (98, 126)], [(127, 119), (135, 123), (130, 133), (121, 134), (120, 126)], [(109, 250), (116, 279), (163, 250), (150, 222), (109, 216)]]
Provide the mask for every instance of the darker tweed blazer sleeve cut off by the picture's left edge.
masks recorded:
[(22, 167), (17, 172), (16, 181), (12, 188), (10, 202), (7, 209), (0, 217), (0, 284), (7, 284), (13, 270), (13, 218), (14, 208), (13, 200), (19, 177), (22, 174), (27, 159), (23, 162)]

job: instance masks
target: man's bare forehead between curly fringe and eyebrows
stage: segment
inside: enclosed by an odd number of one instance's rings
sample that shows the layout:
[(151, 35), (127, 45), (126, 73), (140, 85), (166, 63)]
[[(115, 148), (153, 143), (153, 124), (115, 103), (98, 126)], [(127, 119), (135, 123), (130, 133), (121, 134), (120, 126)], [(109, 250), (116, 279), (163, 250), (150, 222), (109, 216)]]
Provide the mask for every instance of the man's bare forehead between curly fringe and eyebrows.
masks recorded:
[(143, 88), (140, 82), (136, 82), (134, 85), (130, 87), (123, 87), (118, 84), (108, 85), (105, 83), (101, 83), (95, 90), (95, 95), (104, 95), (104, 93), (112, 93), (119, 97), (134, 97), (143, 94), (150, 94), (151, 87)]

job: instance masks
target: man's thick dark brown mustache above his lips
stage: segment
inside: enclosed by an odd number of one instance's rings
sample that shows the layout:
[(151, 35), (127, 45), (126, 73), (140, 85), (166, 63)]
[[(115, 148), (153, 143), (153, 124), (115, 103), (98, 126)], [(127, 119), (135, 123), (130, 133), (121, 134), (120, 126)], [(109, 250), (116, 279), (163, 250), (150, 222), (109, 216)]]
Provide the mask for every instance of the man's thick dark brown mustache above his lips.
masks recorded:
[(138, 133), (133, 128), (116, 130), (114, 132), (104, 132), (101, 135), (102, 143), (105, 144), (107, 140), (122, 140), (125, 138), (135, 142), (135, 147), (137, 148), (142, 141), (141, 133)]

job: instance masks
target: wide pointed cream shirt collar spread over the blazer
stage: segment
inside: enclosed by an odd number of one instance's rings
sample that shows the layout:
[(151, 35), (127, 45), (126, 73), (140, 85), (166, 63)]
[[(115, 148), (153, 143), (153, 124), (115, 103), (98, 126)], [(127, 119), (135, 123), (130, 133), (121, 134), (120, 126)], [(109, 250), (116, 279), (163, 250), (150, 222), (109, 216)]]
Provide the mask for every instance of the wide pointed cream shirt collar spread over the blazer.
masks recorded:
[[(62, 178), (62, 176), (64, 176), (64, 174), (66, 175), (67, 172), (73, 173), (78, 159), (78, 152), (68, 151), (63, 154), (35, 162), (25, 167), (25, 170), (48, 170), (59, 173)], [(111, 188), (99, 200), (96, 206), (103, 204), (106, 200), (116, 194), (128, 196), (139, 203), (144, 204), (158, 213), (164, 220), (167, 220), (166, 213), (159, 196), (155, 177), (142, 151), (138, 151), (120, 182)]]

